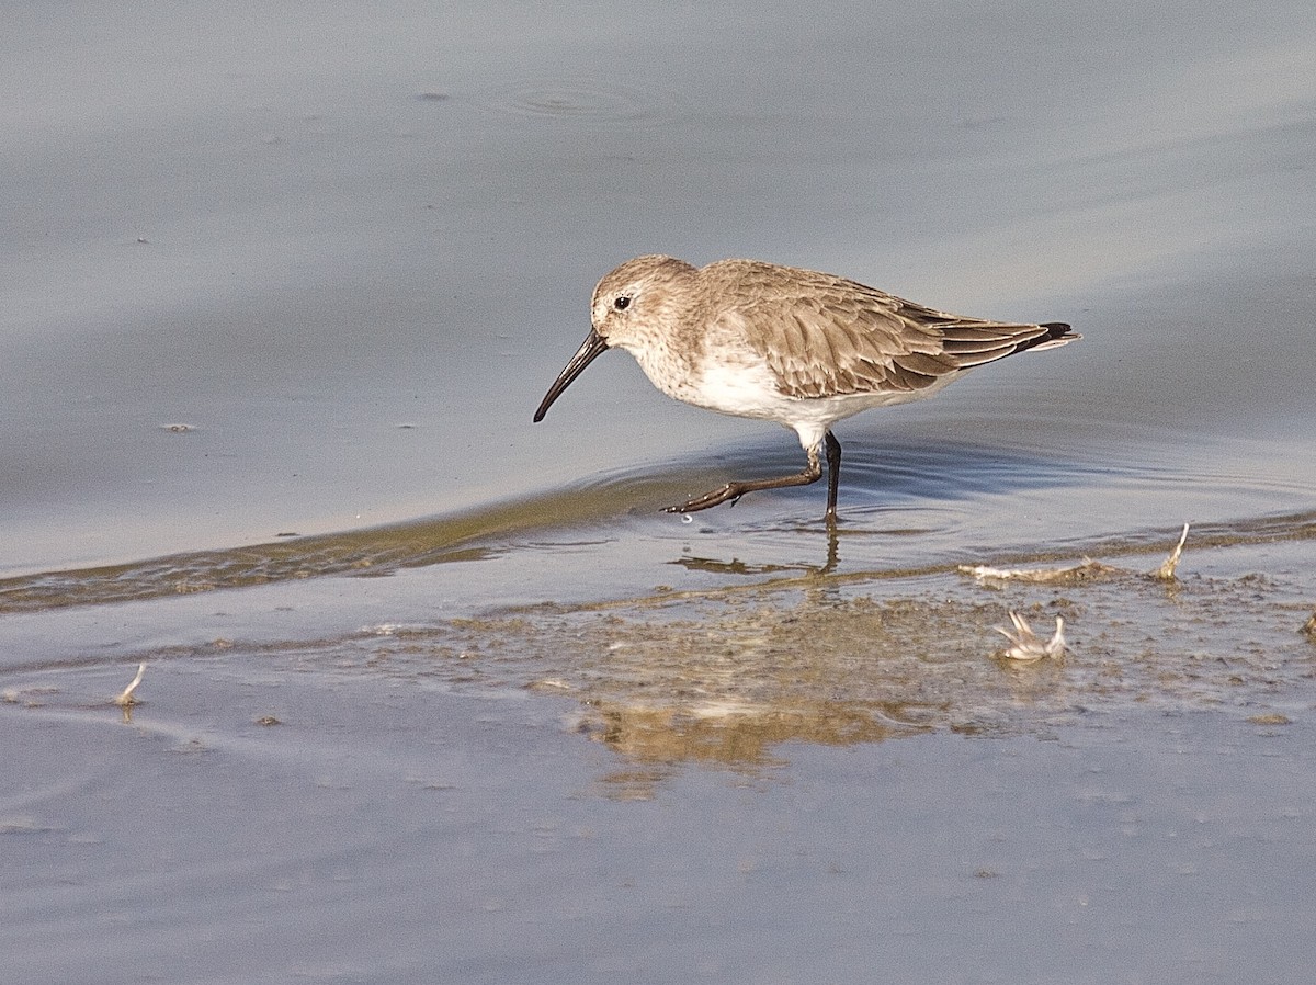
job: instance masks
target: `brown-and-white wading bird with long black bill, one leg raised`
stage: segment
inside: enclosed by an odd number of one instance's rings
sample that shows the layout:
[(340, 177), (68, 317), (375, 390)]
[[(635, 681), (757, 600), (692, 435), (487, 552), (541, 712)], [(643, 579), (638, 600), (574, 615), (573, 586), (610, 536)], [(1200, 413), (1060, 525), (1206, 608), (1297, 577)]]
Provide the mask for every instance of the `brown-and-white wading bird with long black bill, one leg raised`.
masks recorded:
[(678, 400), (794, 428), (808, 467), (774, 479), (728, 482), (666, 512), (688, 514), (746, 492), (805, 486), (828, 462), (826, 519), (836, 519), (841, 444), (832, 425), (871, 407), (932, 396), (975, 366), (1079, 338), (1059, 321), (961, 317), (813, 270), (753, 259), (694, 267), (637, 257), (594, 288), (592, 328), (534, 412), (605, 349), (625, 349), (655, 387)]

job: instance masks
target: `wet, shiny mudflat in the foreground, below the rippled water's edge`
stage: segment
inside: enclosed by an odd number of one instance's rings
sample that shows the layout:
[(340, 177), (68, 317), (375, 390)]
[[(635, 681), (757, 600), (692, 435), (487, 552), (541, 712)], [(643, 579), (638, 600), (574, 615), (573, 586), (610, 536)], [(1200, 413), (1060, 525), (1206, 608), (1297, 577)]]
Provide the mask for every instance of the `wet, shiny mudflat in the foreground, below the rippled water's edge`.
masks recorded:
[[(1313, 532), (216, 639), (134, 653), (126, 710), (121, 666), (29, 665), (11, 968), (1302, 977)], [(1070, 651), (1004, 658), (1008, 610)]]

